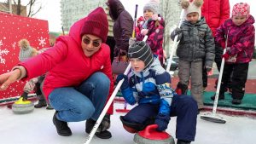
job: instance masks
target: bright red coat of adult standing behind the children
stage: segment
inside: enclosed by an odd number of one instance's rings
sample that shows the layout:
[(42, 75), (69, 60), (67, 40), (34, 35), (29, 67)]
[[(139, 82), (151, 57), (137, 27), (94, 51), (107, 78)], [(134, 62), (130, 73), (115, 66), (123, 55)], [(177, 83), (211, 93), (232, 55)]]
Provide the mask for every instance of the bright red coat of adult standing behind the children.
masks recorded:
[(204, 0), (201, 14), (207, 20), (214, 37), (218, 26), (230, 18), (230, 2), (229, 0)]

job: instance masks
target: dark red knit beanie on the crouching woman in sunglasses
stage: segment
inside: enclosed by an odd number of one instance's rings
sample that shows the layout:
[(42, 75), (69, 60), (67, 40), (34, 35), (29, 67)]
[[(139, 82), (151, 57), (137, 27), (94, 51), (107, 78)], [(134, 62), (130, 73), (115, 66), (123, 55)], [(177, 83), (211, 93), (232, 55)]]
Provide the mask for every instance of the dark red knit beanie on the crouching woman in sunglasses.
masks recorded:
[(88, 14), (84, 26), (81, 29), (80, 37), (84, 34), (91, 34), (102, 38), (105, 43), (108, 37), (108, 18), (102, 7), (98, 7)]

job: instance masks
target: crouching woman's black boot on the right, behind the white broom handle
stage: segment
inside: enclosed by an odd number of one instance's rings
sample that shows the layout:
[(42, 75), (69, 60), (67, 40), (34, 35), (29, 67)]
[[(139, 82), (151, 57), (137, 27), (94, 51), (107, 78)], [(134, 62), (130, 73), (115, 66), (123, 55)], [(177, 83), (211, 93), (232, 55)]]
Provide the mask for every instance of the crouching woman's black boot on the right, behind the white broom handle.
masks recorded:
[[(106, 116), (105, 116), (106, 117)], [(102, 123), (104, 121), (104, 118), (102, 120)], [(109, 122), (110, 122), (110, 119), (109, 119)], [(108, 131), (107, 129), (104, 129), (102, 128), (102, 123), (100, 124), (99, 128), (96, 130), (96, 133), (95, 135), (98, 137), (98, 138), (101, 138), (101, 139), (109, 139), (112, 137), (110, 131)], [(86, 120), (86, 123), (85, 123), (85, 132), (87, 134), (90, 134), (90, 131), (93, 129), (94, 125), (96, 124), (96, 121), (89, 118)]]

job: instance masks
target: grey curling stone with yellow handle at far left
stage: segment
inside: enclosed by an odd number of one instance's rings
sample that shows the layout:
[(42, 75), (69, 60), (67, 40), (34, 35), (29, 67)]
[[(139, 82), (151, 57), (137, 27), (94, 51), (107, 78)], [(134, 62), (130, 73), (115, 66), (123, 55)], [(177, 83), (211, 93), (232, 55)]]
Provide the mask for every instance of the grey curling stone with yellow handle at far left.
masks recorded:
[(34, 104), (32, 101), (23, 101), (23, 97), (20, 97), (18, 101), (12, 105), (12, 110), (16, 114), (25, 114), (34, 110)]

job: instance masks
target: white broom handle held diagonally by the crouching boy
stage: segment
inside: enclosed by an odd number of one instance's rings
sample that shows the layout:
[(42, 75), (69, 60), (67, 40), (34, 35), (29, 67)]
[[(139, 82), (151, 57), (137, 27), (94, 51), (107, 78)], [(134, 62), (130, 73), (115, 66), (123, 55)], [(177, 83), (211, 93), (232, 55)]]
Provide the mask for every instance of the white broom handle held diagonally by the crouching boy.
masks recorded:
[[(143, 41), (146, 42), (146, 40), (148, 39), (148, 36), (146, 35), (143, 38)], [(127, 66), (127, 68), (125, 69), (124, 74), (127, 75), (128, 72), (131, 69), (131, 63), (129, 63), (129, 65)], [(90, 134), (88, 135), (87, 139), (85, 140), (84, 144), (89, 144), (92, 137), (95, 135), (96, 130), (98, 129), (98, 127), (100, 126), (100, 124), (102, 123), (102, 119), (104, 118), (105, 114), (108, 111), (108, 108), (110, 107), (111, 103), (113, 102), (113, 99), (115, 97), (115, 95), (118, 93), (121, 85), (123, 84), (123, 82), (125, 81), (125, 79), (123, 78), (122, 80), (119, 81), (119, 84), (117, 84), (117, 86), (115, 87), (115, 89), (113, 90), (112, 95), (110, 96), (110, 98), (108, 99), (108, 102), (106, 104), (106, 106), (103, 108), (101, 115), (99, 116), (99, 118), (96, 121), (96, 124), (93, 126), (93, 129), (90, 131)]]

